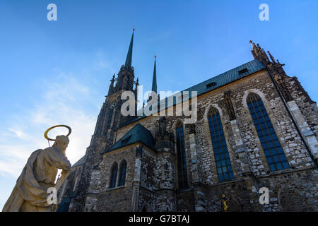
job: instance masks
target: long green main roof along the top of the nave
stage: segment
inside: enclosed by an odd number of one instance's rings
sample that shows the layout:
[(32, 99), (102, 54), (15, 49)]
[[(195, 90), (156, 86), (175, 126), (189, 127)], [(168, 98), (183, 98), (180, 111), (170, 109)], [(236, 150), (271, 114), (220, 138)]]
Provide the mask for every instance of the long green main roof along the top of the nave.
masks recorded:
[[(187, 88), (186, 90), (181, 91), (182, 94), (184, 91), (189, 91), (189, 98), (191, 98), (191, 92), (197, 91), (197, 95), (202, 95), (204, 93), (208, 93), (211, 90), (215, 90), (216, 88), (220, 88), (223, 85), (227, 85), (229, 83), (232, 83), (234, 81), (237, 81), (241, 78), (244, 78), (246, 76), (251, 75), (252, 73), (255, 73), (257, 71), (261, 71), (262, 69), (266, 69), (266, 66), (261, 63), (261, 61), (254, 59), (252, 61), (249, 61), (245, 64), (242, 64), (241, 66), (237, 66), (235, 69), (231, 69), (230, 71), (226, 71), (224, 73), (221, 73), (218, 76), (209, 78), (208, 80), (199, 83), (197, 85), (194, 85), (190, 88)], [(172, 107), (176, 104), (176, 98), (173, 98), (173, 104), (167, 105), (167, 97), (165, 98), (165, 106), (166, 108)], [(147, 116), (143, 114), (143, 116), (140, 117), (140, 119), (146, 118)], [(130, 121), (127, 121), (125, 124), (122, 124), (122, 126), (129, 125), (133, 123), (134, 121), (137, 121), (138, 117), (134, 117)]]

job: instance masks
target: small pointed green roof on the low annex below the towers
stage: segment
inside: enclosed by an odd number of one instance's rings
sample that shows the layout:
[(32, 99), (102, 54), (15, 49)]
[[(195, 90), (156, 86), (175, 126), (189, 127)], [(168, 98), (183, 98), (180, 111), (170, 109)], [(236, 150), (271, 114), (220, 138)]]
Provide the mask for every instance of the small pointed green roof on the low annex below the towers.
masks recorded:
[(119, 141), (117, 141), (112, 148), (105, 150), (104, 153), (108, 153), (112, 150), (125, 147), (127, 145), (131, 145), (132, 143), (141, 142), (146, 145), (148, 148), (152, 150), (156, 150), (155, 148), (155, 139), (151, 134), (151, 131), (148, 131), (145, 127), (141, 124), (136, 124), (130, 131), (128, 131)]

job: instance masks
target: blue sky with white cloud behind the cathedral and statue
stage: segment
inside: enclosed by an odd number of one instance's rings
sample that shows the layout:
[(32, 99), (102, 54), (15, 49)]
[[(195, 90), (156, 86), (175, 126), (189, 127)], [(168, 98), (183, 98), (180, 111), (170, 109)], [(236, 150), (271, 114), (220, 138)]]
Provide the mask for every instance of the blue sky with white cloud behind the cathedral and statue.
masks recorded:
[[(47, 5), (57, 4), (57, 21)], [(259, 5), (269, 5), (269, 21)], [(113, 73), (132, 65), (151, 89), (183, 90), (253, 59), (249, 40), (269, 50), (318, 100), (318, 1), (0, 1), (0, 209), (44, 131), (73, 129), (73, 164), (93, 135)], [(55, 136), (62, 130), (49, 133)]]

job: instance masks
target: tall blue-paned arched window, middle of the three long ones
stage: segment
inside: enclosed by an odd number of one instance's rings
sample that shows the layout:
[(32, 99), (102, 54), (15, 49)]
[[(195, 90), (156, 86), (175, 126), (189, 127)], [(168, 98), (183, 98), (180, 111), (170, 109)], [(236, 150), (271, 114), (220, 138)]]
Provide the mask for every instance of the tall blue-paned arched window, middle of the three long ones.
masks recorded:
[(215, 108), (208, 112), (208, 126), (210, 127), (211, 140), (213, 145), (214, 159), (220, 182), (229, 181), (234, 178), (228, 147), (226, 145), (223, 126), (220, 121), (220, 114)]

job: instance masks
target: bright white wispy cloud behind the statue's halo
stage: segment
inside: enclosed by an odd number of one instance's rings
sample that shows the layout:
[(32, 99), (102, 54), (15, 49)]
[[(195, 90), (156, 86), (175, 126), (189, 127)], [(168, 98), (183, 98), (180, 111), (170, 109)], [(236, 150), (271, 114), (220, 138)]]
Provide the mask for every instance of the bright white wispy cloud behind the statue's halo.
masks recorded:
[[(86, 103), (93, 99), (90, 88), (66, 73), (60, 73), (52, 81), (42, 80), (40, 83), (40, 100), (25, 111), (14, 114), (11, 126), (1, 133), (0, 174), (18, 177), (30, 153), (47, 148), (43, 133), (50, 126), (71, 126), (66, 155), (72, 164), (85, 154), (90, 143), (97, 117), (95, 112), (86, 109)], [(54, 129), (49, 136), (54, 138), (66, 132)]]

